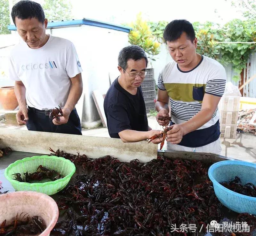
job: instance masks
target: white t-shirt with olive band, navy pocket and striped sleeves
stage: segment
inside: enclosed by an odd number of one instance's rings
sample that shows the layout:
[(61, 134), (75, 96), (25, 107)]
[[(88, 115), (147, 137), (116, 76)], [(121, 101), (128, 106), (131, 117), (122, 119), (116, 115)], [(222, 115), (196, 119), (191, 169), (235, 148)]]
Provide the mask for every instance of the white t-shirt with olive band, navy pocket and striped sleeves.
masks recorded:
[[(166, 90), (171, 101), (172, 123), (181, 124), (202, 108), (204, 94), (221, 97), (225, 90), (226, 72), (214, 59), (202, 56), (190, 71), (181, 71), (175, 61), (168, 63), (158, 77), (158, 88)], [(219, 110), (212, 119), (197, 130), (183, 136), (179, 145), (201, 147), (216, 141), (220, 136)]]

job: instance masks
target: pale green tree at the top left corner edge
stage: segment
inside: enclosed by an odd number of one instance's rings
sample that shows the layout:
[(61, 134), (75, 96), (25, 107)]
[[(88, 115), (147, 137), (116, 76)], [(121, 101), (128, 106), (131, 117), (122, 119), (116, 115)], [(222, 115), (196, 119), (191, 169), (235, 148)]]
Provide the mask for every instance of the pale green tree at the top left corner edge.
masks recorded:
[(10, 30), (7, 29), (10, 24), (8, 0), (0, 1), (0, 19), (0, 34), (10, 34)]

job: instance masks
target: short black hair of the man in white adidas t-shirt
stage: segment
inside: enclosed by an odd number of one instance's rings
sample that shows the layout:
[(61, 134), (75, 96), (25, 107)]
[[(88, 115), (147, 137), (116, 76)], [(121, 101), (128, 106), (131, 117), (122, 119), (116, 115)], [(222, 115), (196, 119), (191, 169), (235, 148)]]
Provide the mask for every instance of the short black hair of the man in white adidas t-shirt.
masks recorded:
[(12, 7), (12, 21), (15, 24), (15, 17), (19, 19), (28, 19), (28, 18), (36, 18), (39, 22), (44, 24), (44, 10), (42, 6), (39, 3), (29, 1), (29, 0), (23, 0), (18, 3), (16, 3)]

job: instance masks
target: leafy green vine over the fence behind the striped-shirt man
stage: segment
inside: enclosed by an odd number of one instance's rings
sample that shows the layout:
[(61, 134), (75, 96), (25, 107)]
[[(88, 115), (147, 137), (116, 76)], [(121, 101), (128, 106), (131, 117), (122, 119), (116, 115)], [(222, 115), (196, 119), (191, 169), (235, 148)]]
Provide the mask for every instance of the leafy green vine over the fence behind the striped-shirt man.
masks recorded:
[(255, 19), (233, 19), (222, 27), (212, 22), (195, 22), (193, 26), (198, 38), (197, 52), (218, 60), (222, 65), (232, 64), (233, 80), (240, 80), (240, 73), (256, 49), (254, 44), (234, 42), (256, 41)]

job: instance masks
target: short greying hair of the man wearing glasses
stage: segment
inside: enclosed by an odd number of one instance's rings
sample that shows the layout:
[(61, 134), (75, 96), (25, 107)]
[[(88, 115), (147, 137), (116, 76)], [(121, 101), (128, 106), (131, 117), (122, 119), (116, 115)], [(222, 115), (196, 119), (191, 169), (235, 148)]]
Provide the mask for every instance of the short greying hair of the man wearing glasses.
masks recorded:
[(134, 61), (140, 60), (145, 58), (146, 60), (146, 67), (148, 66), (148, 58), (145, 51), (137, 46), (137, 45), (130, 45), (128, 47), (123, 48), (118, 55), (118, 65), (121, 66), (124, 70), (127, 68), (127, 61), (132, 59)]

